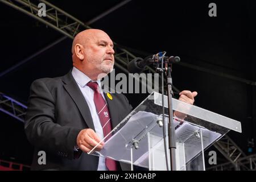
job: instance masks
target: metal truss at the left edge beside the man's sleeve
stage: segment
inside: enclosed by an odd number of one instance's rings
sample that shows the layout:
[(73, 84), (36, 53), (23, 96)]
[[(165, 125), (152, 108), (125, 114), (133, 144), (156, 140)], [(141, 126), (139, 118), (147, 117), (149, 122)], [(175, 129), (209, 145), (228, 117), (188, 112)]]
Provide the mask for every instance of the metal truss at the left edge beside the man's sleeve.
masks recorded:
[(0, 111), (24, 122), (27, 106), (15, 101), (13, 98), (0, 93)]

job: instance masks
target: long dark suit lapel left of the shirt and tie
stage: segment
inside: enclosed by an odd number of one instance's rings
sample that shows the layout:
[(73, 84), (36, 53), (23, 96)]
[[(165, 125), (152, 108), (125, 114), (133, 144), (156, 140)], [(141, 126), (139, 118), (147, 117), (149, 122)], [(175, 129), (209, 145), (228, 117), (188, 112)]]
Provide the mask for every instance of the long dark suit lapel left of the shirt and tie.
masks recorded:
[(84, 118), (84, 121), (90, 129), (93, 129), (95, 131), (89, 106), (84, 96), (82, 95), (79, 86), (76, 84), (76, 81), (73, 78), (71, 71), (63, 77), (63, 82), (65, 90), (67, 90), (69, 96), (71, 96), (72, 100), (75, 102), (82, 117)]

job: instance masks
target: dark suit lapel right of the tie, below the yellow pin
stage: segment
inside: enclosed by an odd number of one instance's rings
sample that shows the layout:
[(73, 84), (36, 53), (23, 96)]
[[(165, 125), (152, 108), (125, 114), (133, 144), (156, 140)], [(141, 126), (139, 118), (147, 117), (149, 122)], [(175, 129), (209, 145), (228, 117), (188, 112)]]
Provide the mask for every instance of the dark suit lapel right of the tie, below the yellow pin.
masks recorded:
[(104, 93), (104, 96), (109, 107), (109, 114), (111, 117), (112, 129), (114, 129), (115, 126), (119, 124), (118, 107), (115, 105), (115, 96), (114, 94), (112, 94), (113, 100), (110, 100), (106, 93)]

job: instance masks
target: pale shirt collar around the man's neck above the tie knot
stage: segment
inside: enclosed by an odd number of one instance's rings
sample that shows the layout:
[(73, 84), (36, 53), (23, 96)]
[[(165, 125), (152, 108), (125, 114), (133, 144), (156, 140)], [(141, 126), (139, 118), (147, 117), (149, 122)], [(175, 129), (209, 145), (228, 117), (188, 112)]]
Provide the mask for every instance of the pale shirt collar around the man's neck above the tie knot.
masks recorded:
[[(82, 88), (88, 84), (88, 82), (90, 82), (90, 78), (85, 75), (84, 73), (82, 73), (79, 69), (77, 69), (76, 67), (73, 67), (72, 69), (72, 76), (75, 78), (77, 84), (79, 84)], [(98, 85), (101, 88), (101, 80), (97, 80)]]

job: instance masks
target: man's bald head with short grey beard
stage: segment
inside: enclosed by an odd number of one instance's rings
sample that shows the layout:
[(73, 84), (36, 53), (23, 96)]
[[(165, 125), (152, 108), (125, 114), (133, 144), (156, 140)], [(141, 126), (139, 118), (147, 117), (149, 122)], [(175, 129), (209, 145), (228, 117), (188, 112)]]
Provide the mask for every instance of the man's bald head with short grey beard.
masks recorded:
[(76, 35), (72, 44), (73, 66), (92, 80), (113, 70), (114, 49), (109, 35), (102, 30), (89, 29)]

